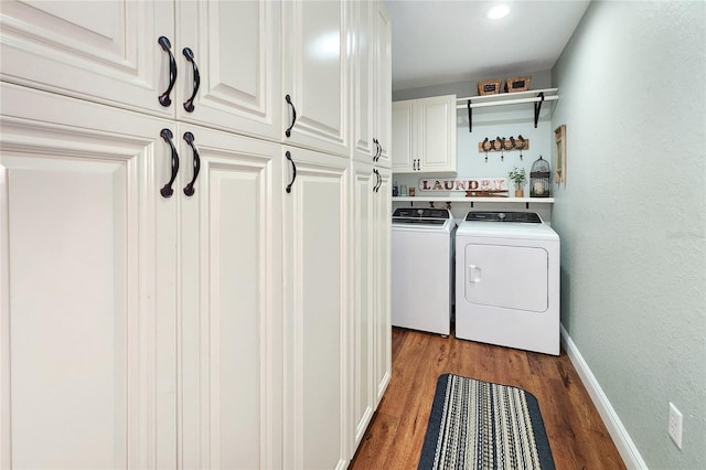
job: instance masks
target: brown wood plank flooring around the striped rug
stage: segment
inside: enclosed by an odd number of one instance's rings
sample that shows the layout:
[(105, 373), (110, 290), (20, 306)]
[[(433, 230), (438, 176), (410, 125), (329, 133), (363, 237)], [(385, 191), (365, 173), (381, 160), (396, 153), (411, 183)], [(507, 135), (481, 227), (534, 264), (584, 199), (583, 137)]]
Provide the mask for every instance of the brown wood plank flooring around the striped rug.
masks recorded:
[(554, 462), (624, 469), (574, 365), (557, 356), (393, 328), (393, 377), (351, 469), (416, 469), (439, 375), (524, 388), (539, 402)]

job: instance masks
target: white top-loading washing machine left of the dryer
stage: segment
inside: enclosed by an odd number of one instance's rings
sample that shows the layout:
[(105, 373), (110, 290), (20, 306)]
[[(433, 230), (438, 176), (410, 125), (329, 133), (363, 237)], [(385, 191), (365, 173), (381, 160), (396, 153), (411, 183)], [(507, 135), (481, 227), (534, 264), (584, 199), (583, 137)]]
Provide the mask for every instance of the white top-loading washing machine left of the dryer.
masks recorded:
[(392, 223), (392, 323), (451, 333), (453, 234), (446, 209), (400, 207)]

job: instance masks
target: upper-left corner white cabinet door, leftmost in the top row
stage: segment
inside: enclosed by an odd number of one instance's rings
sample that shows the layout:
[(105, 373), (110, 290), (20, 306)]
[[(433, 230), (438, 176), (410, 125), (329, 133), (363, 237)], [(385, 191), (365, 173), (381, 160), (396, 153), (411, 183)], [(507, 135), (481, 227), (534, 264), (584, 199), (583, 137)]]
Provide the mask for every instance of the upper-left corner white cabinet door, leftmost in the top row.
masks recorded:
[(165, 36), (174, 45), (173, 8), (171, 1), (151, 0), (2, 0), (0, 77), (173, 115), (173, 107), (158, 100), (169, 84), (169, 58), (158, 39)]

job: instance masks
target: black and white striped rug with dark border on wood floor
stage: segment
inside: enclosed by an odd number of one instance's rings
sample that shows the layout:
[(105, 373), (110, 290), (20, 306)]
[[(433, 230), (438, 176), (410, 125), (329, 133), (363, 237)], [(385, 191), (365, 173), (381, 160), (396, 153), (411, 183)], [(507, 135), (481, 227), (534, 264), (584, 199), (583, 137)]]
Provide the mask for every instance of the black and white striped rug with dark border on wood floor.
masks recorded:
[(554, 469), (537, 399), (516, 387), (439, 376), (418, 469)]

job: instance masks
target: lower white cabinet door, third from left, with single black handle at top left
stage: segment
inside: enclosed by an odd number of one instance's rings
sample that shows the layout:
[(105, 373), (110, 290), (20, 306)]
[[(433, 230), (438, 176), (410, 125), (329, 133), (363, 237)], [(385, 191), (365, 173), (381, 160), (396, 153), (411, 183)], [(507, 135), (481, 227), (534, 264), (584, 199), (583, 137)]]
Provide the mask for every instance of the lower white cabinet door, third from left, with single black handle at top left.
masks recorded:
[[(286, 148), (297, 167), (285, 195), (285, 468), (346, 463), (349, 160)], [(285, 171), (285, 184), (291, 180)]]

